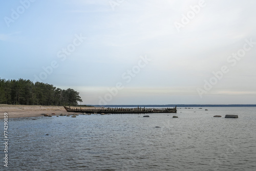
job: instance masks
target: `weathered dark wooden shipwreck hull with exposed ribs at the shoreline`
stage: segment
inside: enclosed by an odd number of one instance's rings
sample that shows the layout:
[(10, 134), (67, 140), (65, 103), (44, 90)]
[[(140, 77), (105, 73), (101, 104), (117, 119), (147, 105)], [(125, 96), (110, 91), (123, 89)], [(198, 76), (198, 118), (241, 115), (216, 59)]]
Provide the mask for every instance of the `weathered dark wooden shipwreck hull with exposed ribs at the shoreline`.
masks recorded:
[(97, 113), (97, 114), (150, 114), (150, 113), (177, 113), (177, 106), (174, 108), (98, 108), (98, 109), (71, 109), (64, 106), (67, 112)]

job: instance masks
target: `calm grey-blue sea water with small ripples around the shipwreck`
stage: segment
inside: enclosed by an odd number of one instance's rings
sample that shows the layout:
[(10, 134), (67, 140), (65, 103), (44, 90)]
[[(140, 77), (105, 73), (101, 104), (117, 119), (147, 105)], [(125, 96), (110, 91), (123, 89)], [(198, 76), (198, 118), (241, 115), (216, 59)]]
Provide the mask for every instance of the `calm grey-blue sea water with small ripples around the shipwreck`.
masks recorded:
[(256, 170), (256, 108), (143, 115), (9, 119), (0, 170)]

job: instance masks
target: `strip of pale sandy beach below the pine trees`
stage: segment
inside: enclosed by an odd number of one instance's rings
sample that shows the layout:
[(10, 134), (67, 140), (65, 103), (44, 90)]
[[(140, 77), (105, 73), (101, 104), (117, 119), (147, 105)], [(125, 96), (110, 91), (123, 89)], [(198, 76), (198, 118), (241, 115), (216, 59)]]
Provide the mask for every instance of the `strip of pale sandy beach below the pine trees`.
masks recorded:
[[(77, 108), (72, 107), (71, 108)], [(92, 107), (82, 107), (92, 108)], [(63, 106), (44, 106), (44, 105), (9, 105), (0, 104), (0, 119), (4, 119), (4, 113), (8, 113), (8, 118), (22, 118), (22, 117), (39, 117), (41, 114), (71, 114), (67, 112)]]

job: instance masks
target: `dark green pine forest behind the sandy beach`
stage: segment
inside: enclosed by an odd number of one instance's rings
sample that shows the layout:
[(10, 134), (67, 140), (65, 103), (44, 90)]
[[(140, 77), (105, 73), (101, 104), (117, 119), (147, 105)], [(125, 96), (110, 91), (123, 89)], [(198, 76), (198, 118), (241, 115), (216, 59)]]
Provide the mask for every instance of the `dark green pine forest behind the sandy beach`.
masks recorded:
[(78, 102), (82, 99), (73, 89), (61, 90), (48, 83), (33, 83), (22, 78), (0, 78), (0, 104), (77, 106)]

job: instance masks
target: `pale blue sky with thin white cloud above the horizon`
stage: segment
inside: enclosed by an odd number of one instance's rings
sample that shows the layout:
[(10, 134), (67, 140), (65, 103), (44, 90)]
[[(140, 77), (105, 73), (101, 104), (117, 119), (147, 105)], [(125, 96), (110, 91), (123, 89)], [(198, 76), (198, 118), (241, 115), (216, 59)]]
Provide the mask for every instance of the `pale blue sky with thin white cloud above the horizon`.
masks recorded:
[(0, 1), (0, 78), (82, 104), (255, 104), (256, 1)]

